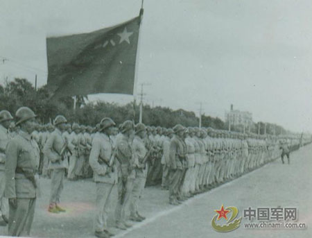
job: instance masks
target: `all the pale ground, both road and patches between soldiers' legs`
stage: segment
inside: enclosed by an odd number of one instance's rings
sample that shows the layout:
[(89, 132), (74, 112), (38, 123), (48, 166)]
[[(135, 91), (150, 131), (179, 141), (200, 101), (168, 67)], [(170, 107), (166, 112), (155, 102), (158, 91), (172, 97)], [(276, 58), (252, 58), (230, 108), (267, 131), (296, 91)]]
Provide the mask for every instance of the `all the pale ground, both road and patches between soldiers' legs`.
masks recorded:
[[(116, 237), (312, 237), (312, 145), (291, 155), (291, 165), (276, 160), (264, 167), (228, 182), (180, 206), (168, 205), (168, 191), (148, 187), (141, 199), (141, 214), (147, 219), (134, 223), (125, 232), (112, 229)], [(62, 205), (65, 214), (47, 212), (50, 180), (41, 179), (42, 197), (37, 199), (33, 237), (94, 237), (93, 218), (95, 185), (92, 180), (65, 181)], [(116, 191), (114, 191), (116, 193)], [(297, 207), (298, 223), (304, 230), (248, 230), (241, 227), (233, 232), (219, 233), (211, 228), (214, 210), (236, 206), (239, 216), (248, 207)], [(220, 220), (221, 221), (221, 220)], [(112, 225), (112, 221), (109, 222)], [(6, 235), (6, 228), (0, 228)]]

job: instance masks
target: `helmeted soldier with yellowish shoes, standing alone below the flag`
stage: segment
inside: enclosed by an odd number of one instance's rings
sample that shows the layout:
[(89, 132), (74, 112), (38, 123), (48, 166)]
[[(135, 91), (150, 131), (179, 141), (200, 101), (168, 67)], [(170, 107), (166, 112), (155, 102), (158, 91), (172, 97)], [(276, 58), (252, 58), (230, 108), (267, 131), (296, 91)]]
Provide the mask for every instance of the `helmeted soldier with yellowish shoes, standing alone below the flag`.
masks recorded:
[(62, 133), (66, 130), (67, 119), (58, 115), (53, 124), (55, 130), (46, 140), (43, 151), (49, 160), (49, 169), (51, 169), (51, 195), (48, 210), (52, 213), (59, 213), (65, 212), (59, 204), (64, 187), (65, 170), (68, 169), (68, 156), (71, 151), (67, 140), (62, 137)]

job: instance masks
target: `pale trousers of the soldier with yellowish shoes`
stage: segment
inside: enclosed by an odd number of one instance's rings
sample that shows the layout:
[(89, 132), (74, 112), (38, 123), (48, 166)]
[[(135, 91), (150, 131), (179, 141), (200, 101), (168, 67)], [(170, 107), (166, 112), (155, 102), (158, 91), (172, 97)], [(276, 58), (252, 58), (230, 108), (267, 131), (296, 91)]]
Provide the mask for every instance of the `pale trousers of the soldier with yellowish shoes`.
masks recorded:
[(51, 176), (50, 205), (60, 203), (60, 194), (64, 188), (65, 169), (53, 169)]

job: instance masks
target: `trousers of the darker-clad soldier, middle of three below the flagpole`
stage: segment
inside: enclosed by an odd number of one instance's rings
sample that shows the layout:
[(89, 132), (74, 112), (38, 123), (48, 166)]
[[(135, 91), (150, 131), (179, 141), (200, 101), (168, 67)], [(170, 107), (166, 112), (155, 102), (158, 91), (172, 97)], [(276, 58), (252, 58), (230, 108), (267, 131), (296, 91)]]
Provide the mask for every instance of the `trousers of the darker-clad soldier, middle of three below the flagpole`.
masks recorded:
[[(123, 182), (120, 181), (117, 184), (118, 189), (118, 202), (116, 206), (115, 216), (117, 222), (125, 222), (125, 212), (128, 209), (128, 206), (130, 205), (131, 201), (131, 195), (132, 195), (132, 189), (135, 185), (135, 178), (128, 178), (127, 182), (125, 182), (125, 187), (123, 187)], [(124, 198), (123, 196), (123, 189), (125, 189), (124, 192)]]

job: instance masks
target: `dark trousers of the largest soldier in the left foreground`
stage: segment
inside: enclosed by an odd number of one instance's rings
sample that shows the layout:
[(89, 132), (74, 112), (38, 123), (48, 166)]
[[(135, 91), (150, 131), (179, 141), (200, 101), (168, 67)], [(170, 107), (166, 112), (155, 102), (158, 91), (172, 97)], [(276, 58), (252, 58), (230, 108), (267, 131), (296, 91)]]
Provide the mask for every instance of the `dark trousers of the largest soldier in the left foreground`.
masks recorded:
[(36, 198), (17, 198), (17, 207), (9, 205), (8, 235), (21, 237), (31, 235)]

